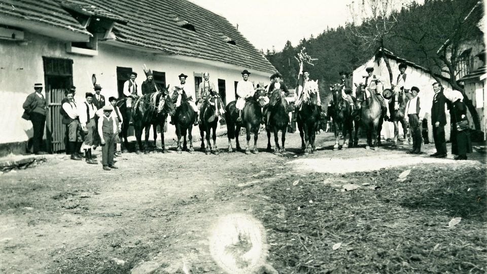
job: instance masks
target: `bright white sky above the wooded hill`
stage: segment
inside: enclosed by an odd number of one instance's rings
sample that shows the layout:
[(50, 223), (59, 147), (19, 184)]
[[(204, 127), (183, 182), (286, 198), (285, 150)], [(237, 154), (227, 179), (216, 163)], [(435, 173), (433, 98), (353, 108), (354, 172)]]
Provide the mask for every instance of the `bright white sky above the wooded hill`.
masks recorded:
[(257, 49), (281, 51), (286, 41), (297, 46), (317, 37), (327, 26), (344, 26), (352, 0), (190, 0), (218, 13), (233, 24)]

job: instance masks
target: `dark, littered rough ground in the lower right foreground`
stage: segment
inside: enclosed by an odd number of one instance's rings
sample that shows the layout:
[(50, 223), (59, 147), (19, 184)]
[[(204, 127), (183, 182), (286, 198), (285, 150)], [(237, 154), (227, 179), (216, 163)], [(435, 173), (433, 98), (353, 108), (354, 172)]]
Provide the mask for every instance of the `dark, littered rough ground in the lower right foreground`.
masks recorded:
[(398, 182), (405, 169), (266, 185), (269, 260), (280, 273), (485, 273), (484, 166), (423, 165)]

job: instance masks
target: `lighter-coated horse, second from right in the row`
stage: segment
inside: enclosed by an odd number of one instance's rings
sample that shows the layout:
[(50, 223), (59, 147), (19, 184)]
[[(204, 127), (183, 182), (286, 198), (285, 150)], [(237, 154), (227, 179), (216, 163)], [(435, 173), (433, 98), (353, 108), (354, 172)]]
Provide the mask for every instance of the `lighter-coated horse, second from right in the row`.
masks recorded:
[[(380, 146), (380, 131), (382, 130), (382, 123), (384, 122), (385, 113), (382, 113), (380, 101), (375, 92), (369, 92), (367, 96), (364, 85), (357, 85), (357, 102), (362, 105), (361, 108), (361, 125), (365, 129), (367, 135), (367, 145), (365, 149), (375, 148)], [(358, 127), (355, 127), (358, 131)], [(372, 143), (373, 138), (373, 143)]]

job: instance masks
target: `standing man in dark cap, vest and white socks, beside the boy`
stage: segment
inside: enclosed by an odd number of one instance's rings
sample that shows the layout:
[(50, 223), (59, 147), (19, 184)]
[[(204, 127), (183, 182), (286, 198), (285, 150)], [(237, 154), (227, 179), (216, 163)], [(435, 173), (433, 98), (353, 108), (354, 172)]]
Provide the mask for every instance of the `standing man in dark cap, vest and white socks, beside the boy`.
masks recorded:
[(92, 158), (91, 148), (93, 147), (94, 133), (95, 133), (95, 113), (96, 107), (93, 103), (93, 93), (86, 92), (86, 101), (79, 106), (79, 119), (84, 135), (84, 151), (85, 159), (89, 164), (97, 164), (98, 162)]

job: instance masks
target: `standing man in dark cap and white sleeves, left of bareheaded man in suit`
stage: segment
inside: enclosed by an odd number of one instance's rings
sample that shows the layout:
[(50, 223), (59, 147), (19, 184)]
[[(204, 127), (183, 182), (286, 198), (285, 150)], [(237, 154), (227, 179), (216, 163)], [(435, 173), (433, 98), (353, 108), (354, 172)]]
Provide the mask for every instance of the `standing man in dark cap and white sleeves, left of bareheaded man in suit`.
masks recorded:
[(412, 98), (406, 103), (406, 122), (409, 123), (409, 129), (411, 130), (412, 149), (407, 153), (420, 154), (423, 138), (421, 136), (422, 121), (425, 117), (425, 110), (421, 108), (420, 97), (418, 93), (420, 89), (418, 87), (411, 87)]

